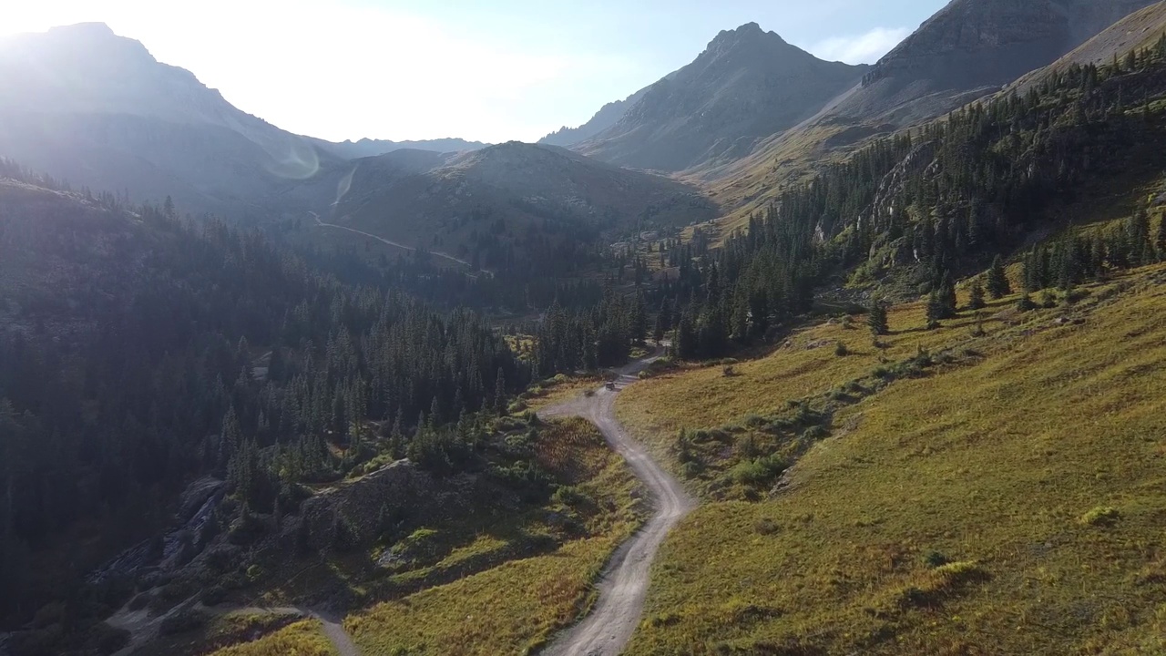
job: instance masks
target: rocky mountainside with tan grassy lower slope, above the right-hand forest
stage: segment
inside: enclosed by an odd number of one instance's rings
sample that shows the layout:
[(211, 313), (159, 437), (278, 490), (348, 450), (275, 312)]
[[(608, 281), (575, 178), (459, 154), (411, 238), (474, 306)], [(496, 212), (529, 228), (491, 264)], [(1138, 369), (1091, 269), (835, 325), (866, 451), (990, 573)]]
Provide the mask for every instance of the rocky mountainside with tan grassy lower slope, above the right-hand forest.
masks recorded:
[[(871, 135), (934, 118), (1053, 63), (1152, 0), (953, 0), (880, 60), (864, 84), (738, 161), (690, 172), (731, 212), (726, 228), (789, 182)], [(1108, 22), (1107, 22), (1108, 21)]]

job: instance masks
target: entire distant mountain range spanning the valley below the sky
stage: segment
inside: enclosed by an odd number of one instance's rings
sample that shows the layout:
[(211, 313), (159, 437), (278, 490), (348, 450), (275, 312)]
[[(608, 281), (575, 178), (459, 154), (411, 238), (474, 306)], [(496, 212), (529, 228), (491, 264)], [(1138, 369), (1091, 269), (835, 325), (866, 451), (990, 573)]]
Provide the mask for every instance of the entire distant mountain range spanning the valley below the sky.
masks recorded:
[(646, 215), (675, 224), (714, 211), (693, 200), (696, 210), (665, 216), (661, 207), (686, 205), (693, 189), (627, 169), (701, 180), (740, 218), (813, 162), (1020, 84), (1150, 5), (953, 0), (873, 67), (819, 60), (747, 23), (538, 147), (300, 137), (141, 43), (78, 25), (0, 40), (0, 156), (135, 200), (171, 196), (185, 211), (255, 222), (312, 211), (417, 244), (445, 230), (465, 245), (469, 236), (448, 225), (470, 211), (468, 197), (519, 223), (559, 212), (626, 228)]

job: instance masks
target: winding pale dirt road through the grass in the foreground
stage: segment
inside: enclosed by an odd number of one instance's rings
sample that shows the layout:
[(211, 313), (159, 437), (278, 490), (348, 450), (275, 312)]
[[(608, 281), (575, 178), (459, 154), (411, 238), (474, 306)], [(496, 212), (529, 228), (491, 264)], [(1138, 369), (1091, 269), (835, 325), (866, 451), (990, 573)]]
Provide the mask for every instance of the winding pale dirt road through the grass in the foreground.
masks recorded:
[(599, 389), (593, 397), (580, 397), (542, 410), (540, 417), (583, 417), (595, 424), (607, 444), (624, 456), (655, 502), (652, 518), (616, 550), (600, 574), (599, 599), (580, 623), (564, 630), (543, 656), (616, 656), (624, 650), (644, 612), (652, 560), (668, 531), (693, 509), (693, 500), (680, 483), (660, 468), (616, 420), (616, 396), (637, 381), (635, 375), (660, 357), (656, 355), (625, 367), (616, 390)]

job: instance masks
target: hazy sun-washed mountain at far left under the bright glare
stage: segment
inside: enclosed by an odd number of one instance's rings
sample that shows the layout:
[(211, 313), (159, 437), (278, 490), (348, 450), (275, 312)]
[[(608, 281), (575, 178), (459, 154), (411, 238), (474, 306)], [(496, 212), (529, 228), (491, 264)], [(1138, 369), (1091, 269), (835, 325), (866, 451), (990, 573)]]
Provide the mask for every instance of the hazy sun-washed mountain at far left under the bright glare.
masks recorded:
[(232, 106), (100, 23), (0, 41), (0, 155), (191, 211), (280, 207), (340, 158)]

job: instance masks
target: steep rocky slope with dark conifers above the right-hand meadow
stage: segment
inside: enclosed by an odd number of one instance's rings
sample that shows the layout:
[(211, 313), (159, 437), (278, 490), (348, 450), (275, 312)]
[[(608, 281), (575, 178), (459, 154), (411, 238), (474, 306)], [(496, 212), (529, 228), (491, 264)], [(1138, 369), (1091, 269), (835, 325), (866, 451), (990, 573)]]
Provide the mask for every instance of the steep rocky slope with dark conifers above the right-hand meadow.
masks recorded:
[[(781, 194), (697, 264), (697, 245), (676, 246), (674, 292), (691, 301), (681, 354), (718, 357), (749, 343), (807, 309), (812, 289), (833, 279), (927, 293), (1068, 226), (1062, 208), (1130, 198), (1166, 167), (1164, 92), (1166, 36), (877, 140)], [(1072, 285), (1157, 257), (1166, 236), (1151, 232), (1149, 208), (1136, 202), (1122, 230), (1042, 244), (1030, 286)]]

